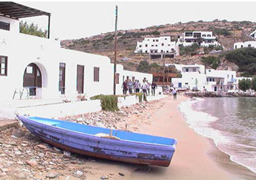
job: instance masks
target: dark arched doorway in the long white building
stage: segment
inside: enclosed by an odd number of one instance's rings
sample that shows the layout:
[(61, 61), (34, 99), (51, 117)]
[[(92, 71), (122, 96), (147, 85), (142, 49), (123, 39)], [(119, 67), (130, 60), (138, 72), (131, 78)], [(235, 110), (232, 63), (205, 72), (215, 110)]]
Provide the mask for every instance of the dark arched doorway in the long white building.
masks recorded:
[(36, 89), (41, 88), (42, 80), (41, 80), (41, 71), (35, 63), (29, 64), (23, 76), (23, 87), (29, 89), (29, 95), (35, 96)]

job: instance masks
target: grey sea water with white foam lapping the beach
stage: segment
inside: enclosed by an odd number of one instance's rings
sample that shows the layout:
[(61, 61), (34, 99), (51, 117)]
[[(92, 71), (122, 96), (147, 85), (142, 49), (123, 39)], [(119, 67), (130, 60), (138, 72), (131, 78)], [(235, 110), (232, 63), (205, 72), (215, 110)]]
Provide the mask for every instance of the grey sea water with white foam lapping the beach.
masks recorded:
[(179, 108), (191, 128), (256, 173), (256, 98), (197, 98)]

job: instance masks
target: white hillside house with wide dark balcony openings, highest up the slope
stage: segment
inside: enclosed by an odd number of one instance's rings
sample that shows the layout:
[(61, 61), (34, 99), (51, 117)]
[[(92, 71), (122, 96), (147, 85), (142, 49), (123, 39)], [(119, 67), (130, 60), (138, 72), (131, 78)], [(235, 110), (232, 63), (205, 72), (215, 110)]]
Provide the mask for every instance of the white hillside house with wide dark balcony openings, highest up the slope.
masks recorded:
[(190, 46), (193, 43), (199, 43), (200, 46), (218, 46), (217, 37), (212, 35), (212, 31), (185, 31), (178, 38), (178, 45)]

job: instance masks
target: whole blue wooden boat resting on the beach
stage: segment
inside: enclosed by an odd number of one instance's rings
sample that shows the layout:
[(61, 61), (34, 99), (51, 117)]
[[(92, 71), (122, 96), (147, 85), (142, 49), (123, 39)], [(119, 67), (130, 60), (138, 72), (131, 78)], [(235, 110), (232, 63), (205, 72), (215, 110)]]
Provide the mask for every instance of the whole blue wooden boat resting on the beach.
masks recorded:
[(51, 118), (17, 116), (44, 142), (78, 154), (127, 163), (169, 166), (176, 139), (111, 130)]

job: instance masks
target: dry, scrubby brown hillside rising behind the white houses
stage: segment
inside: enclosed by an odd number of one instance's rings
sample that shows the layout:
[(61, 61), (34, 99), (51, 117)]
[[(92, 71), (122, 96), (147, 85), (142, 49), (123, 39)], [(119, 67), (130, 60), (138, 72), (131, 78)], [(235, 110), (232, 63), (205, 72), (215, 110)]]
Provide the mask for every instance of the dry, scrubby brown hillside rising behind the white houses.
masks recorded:
[[(224, 46), (225, 50), (233, 48), (233, 43), (239, 41), (253, 40), (248, 37), (251, 31), (256, 28), (256, 23), (249, 21), (213, 20), (212, 22), (188, 22), (175, 23), (148, 28), (133, 30), (119, 30), (117, 37), (117, 63), (122, 64), (126, 70), (135, 71), (137, 65), (142, 60), (148, 60), (148, 55), (136, 54), (136, 42), (142, 41), (144, 37), (171, 36), (172, 40), (177, 40), (184, 31), (213, 31), (218, 36), (218, 42)], [(82, 52), (90, 52), (99, 55), (106, 55), (114, 61), (114, 32), (99, 34), (92, 37), (85, 37), (76, 40), (62, 40), (63, 48), (75, 49)], [(203, 48), (199, 49), (203, 51)], [(207, 56), (207, 55), (206, 55)], [(130, 61), (121, 62), (120, 58), (132, 58)], [(152, 60), (158, 64), (163, 64), (161, 59)], [(202, 64), (200, 55), (180, 55), (175, 58), (166, 58), (166, 63), (179, 63), (184, 65)], [(221, 62), (221, 69), (237, 70), (237, 66), (228, 62)]]

